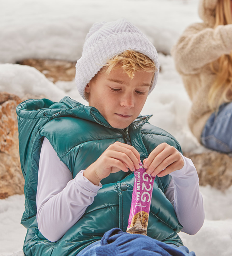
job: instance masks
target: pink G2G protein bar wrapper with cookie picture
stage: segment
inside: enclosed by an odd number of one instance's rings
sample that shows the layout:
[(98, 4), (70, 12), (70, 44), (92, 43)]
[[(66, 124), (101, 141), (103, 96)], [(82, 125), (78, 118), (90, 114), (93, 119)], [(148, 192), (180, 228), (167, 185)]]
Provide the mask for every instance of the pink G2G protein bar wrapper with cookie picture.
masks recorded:
[(135, 170), (135, 184), (126, 232), (147, 235), (147, 223), (155, 177), (146, 173), (142, 162), (139, 165), (140, 168)]

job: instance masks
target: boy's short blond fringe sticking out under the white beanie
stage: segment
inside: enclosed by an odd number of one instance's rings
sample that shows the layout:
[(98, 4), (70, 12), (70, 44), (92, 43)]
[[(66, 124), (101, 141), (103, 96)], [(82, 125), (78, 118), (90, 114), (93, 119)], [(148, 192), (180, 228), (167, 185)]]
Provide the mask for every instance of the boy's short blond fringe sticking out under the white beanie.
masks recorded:
[[(97, 74), (91, 79), (91, 82), (95, 83), (97, 81), (97, 76), (100, 73), (106, 73), (106, 75), (109, 75), (111, 70), (120, 68), (123, 68), (123, 72), (126, 72), (130, 79), (135, 77), (135, 71), (144, 70), (148, 73), (154, 73), (150, 88), (154, 81), (155, 71), (157, 71), (157, 67), (149, 57), (134, 50), (126, 50), (125, 52), (119, 53), (113, 58), (107, 60), (107, 63), (104, 64), (99, 72), (97, 72)], [(88, 99), (88, 93), (86, 93), (86, 98)]]

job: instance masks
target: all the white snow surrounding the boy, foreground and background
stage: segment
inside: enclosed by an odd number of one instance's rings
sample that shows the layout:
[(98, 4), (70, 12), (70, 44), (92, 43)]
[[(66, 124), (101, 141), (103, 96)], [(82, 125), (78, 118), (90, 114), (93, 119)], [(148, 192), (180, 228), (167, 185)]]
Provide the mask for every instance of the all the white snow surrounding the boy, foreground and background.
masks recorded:
[[(86, 104), (75, 81), (51, 81), (33, 67), (15, 64), (24, 58), (77, 60), (85, 35), (97, 21), (124, 17), (139, 27), (159, 52), (169, 53), (184, 28), (199, 22), (198, 0), (0, 0), (0, 91), (24, 96), (43, 94), (59, 101), (63, 96)], [(189, 131), (191, 102), (170, 55), (159, 53), (162, 72), (142, 114), (170, 132), (184, 152), (201, 152)], [(1, 64), (2, 63), (2, 64)], [(206, 219), (198, 234), (180, 233), (197, 256), (232, 255), (232, 187), (225, 193), (201, 187)], [(20, 225), (24, 196), (0, 200), (0, 256), (22, 256), (26, 229)]]

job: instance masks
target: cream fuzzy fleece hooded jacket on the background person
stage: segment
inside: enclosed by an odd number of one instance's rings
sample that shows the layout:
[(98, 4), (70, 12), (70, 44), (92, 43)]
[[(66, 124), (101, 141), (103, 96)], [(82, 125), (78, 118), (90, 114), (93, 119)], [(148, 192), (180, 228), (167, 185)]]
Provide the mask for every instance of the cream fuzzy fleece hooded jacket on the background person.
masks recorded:
[[(199, 142), (203, 127), (213, 113), (207, 98), (216, 75), (209, 64), (232, 50), (232, 24), (213, 29), (216, 4), (217, 0), (200, 0), (199, 15), (203, 22), (187, 27), (171, 50), (176, 69), (192, 101), (188, 123)], [(232, 100), (232, 92), (228, 97)]]

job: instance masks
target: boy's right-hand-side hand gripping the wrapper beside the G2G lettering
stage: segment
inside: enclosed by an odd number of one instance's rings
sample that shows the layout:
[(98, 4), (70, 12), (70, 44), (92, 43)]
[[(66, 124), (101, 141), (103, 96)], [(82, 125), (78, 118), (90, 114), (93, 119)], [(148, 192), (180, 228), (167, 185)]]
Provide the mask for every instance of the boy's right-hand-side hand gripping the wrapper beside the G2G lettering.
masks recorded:
[(167, 143), (159, 144), (148, 158), (143, 160), (143, 167), (151, 176), (163, 177), (183, 166), (184, 160), (179, 151)]

